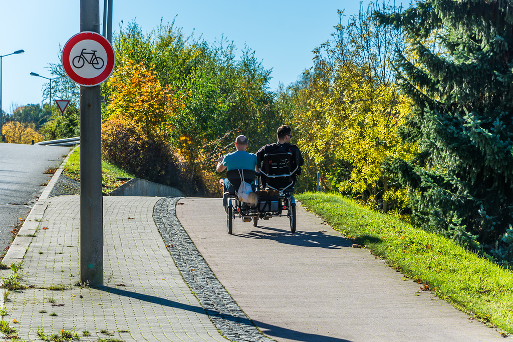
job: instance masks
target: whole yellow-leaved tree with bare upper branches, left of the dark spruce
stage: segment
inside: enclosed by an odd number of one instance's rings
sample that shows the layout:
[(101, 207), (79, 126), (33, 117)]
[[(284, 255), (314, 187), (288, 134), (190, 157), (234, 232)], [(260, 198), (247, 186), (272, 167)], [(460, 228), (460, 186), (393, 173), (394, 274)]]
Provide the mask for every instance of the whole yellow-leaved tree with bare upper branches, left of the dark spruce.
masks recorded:
[(315, 67), (305, 74), (307, 110), (296, 123), (301, 146), (332, 188), (387, 211), (390, 203), (401, 204), (404, 189), (381, 166), (392, 155), (407, 158), (415, 147), (400, 145), (396, 134), (409, 111), (391, 65), (403, 40), (377, 25), (372, 13), (378, 8), (386, 9), (370, 4), (347, 26), (339, 11), (333, 38), (314, 50)]

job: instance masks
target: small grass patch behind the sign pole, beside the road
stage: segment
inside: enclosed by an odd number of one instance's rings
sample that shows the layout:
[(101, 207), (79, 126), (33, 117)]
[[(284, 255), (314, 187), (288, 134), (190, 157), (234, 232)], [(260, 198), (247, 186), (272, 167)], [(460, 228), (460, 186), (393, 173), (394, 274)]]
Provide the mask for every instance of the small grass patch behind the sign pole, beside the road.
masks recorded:
[[(73, 153), (71, 153), (63, 169), (67, 177), (80, 182), (80, 147), (77, 147)], [(125, 183), (123, 180), (117, 178), (134, 177), (134, 175), (102, 160), (102, 191), (105, 194)]]

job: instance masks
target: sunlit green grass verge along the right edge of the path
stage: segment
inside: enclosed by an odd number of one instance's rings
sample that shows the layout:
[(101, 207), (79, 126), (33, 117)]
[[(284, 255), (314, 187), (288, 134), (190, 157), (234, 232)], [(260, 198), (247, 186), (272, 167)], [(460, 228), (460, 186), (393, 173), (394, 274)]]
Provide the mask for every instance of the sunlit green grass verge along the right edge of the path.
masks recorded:
[(453, 240), (337, 194), (296, 196), (334, 229), (456, 308), (513, 333), (513, 273)]

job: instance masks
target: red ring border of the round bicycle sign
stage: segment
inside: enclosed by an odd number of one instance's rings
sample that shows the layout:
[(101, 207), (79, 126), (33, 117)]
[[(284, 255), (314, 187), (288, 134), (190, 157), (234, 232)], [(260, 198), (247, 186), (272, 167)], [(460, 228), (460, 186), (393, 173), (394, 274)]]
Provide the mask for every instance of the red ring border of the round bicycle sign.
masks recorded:
[[(103, 71), (94, 77), (87, 78), (83, 77), (81, 75), (78, 75), (75, 70), (73, 70), (73, 67), (70, 64), (70, 54), (71, 50), (75, 47), (77, 44), (81, 44), (83, 41), (94, 41), (100, 44), (107, 54), (107, 61), (105, 62), (105, 66)], [(103, 60), (103, 59), (102, 59)], [(89, 63), (89, 62), (88, 62)], [(114, 64), (115, 64), (115, 56), (114, 56), (114, 49), (112, 48), (112, 45), (110, 42), (105, 38), (103, 35), (96, 33), (96, 32), (80, 32), (69, 38), (66, 45), (64, 45), (63, 54), (62, 54), (62, 64), (64, 71), (68, 75), (69, 78), (72, 79), (73, 82), (80, 84), (81, 86), (85, 87), (93, 87), (97, 86), (103, 82), (106, 81), (107, 78), (109, 78), (112, 71), (114, 71)]]

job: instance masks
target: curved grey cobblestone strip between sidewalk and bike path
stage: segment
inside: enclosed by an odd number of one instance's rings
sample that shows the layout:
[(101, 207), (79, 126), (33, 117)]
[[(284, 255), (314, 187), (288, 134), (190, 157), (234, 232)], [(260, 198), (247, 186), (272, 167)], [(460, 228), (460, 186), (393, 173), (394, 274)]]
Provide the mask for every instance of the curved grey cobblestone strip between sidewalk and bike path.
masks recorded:
[(155, 204), (153, 219), (187, 285), (200, 300), (215, 327), (233, 341), (274, 341), (263, 335), (215, 277), (176, 217), (179, 197)]

